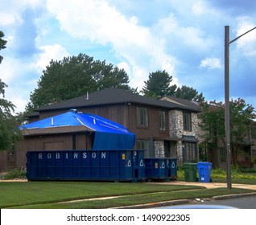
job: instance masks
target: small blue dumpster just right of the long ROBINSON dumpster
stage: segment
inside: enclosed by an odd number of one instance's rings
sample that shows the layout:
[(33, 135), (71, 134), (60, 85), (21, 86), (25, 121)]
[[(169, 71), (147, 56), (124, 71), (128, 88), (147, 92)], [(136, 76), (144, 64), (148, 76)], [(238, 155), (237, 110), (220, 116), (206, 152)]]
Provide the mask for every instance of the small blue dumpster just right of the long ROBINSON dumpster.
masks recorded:
[(145, 158), (145, 176), (148, 180), (169, 180), (167, 158)]

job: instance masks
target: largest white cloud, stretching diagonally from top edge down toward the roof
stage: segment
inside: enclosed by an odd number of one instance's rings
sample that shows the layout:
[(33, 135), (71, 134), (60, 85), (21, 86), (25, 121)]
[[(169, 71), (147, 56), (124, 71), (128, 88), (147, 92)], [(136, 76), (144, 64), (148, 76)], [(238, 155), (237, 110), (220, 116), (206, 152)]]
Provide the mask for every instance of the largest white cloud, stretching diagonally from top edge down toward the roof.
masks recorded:
[[(110, 44), (115, 54), (130, 65), (133, 80), (147, 78), (149, 72), (161, 68), (174, 71), (173, 58), (167, 55), (163, 39), (153, 35), (149, 27), (139, 25), (137, 17), (126, 17), (106, 1), (76, 0), (70, 5), (68, 0), (48, 0), (47, 8), (69, 35)], [(135, 87), (142, 88), (141, 84)]]

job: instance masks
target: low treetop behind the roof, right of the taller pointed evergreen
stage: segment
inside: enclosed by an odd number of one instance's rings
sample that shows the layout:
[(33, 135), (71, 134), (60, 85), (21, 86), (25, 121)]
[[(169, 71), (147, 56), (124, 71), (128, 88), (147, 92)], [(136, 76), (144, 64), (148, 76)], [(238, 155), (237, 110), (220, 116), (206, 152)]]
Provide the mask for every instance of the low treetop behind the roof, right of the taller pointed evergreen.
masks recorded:
[(198, 94), (196, 89), (185, 85), (183, 85), (181, 88), (177, 88), (175, 91), (175, 96), (182, 99), (194, 100), (196, 102), (204, 101), (203, 93)]

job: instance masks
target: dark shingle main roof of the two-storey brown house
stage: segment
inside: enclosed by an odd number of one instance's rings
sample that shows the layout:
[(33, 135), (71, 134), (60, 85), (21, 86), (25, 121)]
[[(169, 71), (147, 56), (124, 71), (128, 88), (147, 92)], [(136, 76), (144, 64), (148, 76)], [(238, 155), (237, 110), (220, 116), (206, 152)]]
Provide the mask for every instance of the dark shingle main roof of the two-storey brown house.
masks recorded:
[(71, 100), (64, 100), (56, 104), (47, 105), (37, 111), (50, 111), (58, 109), (85, 108), (109, 104), (145, 104), (159, 108), (181, 109), (197, 112), (195, 108), (186, 105), (175, 104), (165, 100), (155, 100), (150, 97), (140, 96), (133, 92), (118, 88), (105, 88), (98, 92), (89, 93), (89, 96), (79, 96)]

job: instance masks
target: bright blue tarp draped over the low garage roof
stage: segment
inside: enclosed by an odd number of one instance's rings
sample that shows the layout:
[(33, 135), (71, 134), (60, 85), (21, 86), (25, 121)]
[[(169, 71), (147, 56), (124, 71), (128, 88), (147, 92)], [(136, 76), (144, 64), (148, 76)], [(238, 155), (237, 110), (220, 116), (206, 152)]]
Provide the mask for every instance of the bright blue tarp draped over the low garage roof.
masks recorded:
[[(95, 132), (93, 149), (133, 149), (135, 143), (134, 133), (130, 133), (125, 126), (109, 121), (103, 117), (89, 113), (77, 113), (71, 110), (54, 117), (48, 117), (41, 121), (22, 125), (19, 129), (24, 130), (52, 130), (53, 128), (81, 127), (85, 131)], [(74, 131), (74, 130), (73, 130)], [(53, 133), (53, 132), (51, 132)]]

